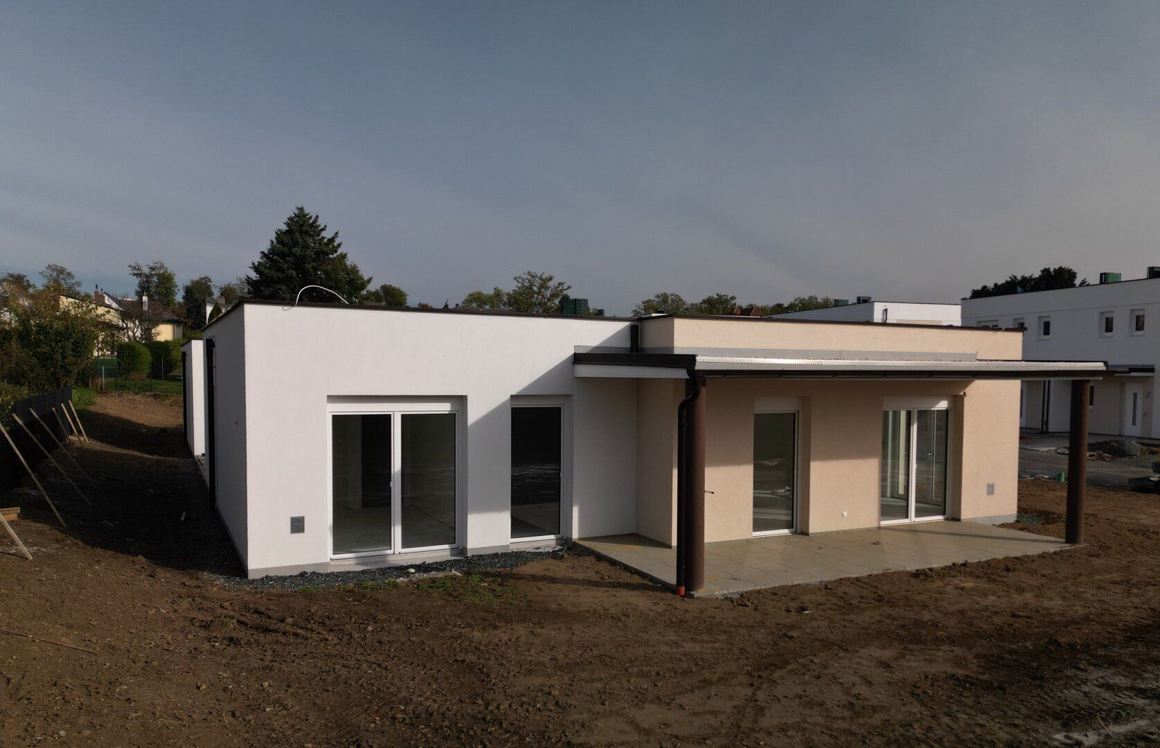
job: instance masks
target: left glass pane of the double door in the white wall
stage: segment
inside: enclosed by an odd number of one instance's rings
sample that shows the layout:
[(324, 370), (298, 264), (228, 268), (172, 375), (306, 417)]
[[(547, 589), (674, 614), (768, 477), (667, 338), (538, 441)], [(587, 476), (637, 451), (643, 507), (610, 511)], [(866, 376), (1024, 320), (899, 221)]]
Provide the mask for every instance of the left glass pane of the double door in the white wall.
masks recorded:
[(391, 416), (332, 415), (335, 553), (391, 549)]

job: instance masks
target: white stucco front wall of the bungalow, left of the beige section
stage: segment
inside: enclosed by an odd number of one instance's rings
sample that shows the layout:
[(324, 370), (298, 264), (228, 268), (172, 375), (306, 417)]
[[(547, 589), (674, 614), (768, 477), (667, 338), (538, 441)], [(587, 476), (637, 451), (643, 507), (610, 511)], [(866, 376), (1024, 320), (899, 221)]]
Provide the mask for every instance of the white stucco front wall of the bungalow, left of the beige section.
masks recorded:
[[(567, 402), (570, 535), (635, 530), (636, 383), (572, 375), (575, 346), (628, 347), (629, 322), (260, 304), (223, 321), (242, 319), (251, 573), (329, 561), (328, 399), (343, 397), (458, 399), (458, 532), (469, 553), (509, 547), (513, 395)], [(291, 516), (305, 517), (304, 533), (290, 533)]]

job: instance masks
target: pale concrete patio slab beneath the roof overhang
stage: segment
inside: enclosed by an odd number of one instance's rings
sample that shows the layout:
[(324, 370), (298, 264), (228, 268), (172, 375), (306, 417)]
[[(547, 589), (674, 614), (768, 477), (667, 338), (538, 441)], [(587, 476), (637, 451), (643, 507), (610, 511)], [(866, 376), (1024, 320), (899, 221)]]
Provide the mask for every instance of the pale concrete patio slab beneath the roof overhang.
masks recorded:
[[(639, 535), (577, 540), (597, 555), (674, 586), (676, 550)], [(702, 596), (782, 584), (915, 571), (992, 558), (1047, 553), (1063, 540), (977, 522), (916, 522), (826, 535), (782, 535), (705, 545)]]

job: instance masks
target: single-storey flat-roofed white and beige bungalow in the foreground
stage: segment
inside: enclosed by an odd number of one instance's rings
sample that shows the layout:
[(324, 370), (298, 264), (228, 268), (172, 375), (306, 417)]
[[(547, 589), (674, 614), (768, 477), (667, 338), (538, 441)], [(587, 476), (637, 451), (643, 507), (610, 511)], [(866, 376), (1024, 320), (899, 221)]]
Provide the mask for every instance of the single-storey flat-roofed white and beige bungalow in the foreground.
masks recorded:
[(186, 343), (187, 437), (251, 576), (618, 533), (693, 549), (1002, 523), (1020, 380), (1103, 372), (1021, 347), (930, 325), (244, 299)]

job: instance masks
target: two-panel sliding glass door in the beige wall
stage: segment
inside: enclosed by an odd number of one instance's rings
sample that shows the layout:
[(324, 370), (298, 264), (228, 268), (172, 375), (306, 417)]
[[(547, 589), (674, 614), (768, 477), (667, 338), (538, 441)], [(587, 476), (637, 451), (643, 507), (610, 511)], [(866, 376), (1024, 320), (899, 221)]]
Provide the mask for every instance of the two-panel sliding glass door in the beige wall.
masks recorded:
[(947, 516), (950, 411), (885, 411), (879, 518), (884, 524)]

